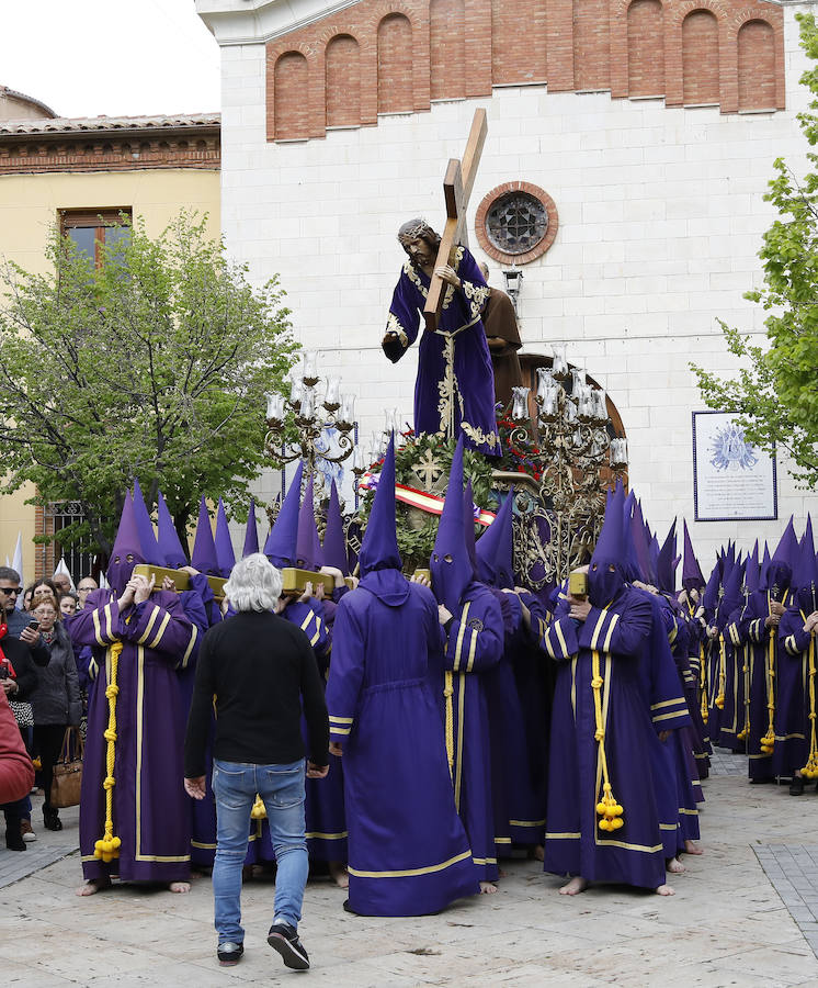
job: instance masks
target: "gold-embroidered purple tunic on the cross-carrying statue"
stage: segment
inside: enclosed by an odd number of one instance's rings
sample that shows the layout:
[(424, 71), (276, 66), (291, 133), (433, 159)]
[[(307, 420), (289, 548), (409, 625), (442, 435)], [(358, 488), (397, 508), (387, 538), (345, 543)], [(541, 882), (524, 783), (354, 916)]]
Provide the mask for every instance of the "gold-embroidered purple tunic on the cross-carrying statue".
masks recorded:
[[(414, 383), (414, 431), (461, 434), (473, 449), (500, 453), (495, 417), (495, 375), (480, 313), (489, 289), (467, 248), (457, 247), (454, 269), (462, 287), (446, 287), (440, 325), (424, 332)], [(396, 346), (387, 349), (399, 360), (414, 343), (430, 280), (407, 258), (395, 288), (386, 332)]]

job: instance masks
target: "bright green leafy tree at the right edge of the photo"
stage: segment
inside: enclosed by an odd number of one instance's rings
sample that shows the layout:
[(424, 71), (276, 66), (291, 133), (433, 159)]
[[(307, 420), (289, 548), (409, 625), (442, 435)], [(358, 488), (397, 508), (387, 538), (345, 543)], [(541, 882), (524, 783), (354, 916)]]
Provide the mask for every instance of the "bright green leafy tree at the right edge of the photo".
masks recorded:
[[(818, 59), (818, 29), (813, 14), (796, 14), (800, 44)], [(798, 123), (809, 145), (818, 143), (818, 67), (800, 82), (813, 93)], [(746, 438), (771, 451), (777, 445), (793, 460), (796, 481), (818, 485), (818, 154), (807, 151), (811, 170), (799, 180), (782, 158), (764, 195), (780, 218), (764, 234), (759, 252), (764, 288), (746, 299), (763, 305), (769, 347), (719, 319), (728, 349), (745, 364), (737, 379), (723, 380), (691, 364), (705, 403), (735, 414)]]

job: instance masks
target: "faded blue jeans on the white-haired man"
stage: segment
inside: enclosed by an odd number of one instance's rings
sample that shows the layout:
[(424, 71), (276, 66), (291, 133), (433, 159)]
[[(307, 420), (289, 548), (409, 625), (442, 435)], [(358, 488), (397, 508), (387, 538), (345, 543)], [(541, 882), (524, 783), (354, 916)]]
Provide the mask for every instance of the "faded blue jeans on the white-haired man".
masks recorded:
[(213, 762), (216, 797), (216, 860), (213, 865), (215, 924), (219, 943), (243, 943), (241, 867), (247, 856), (250, 810), (261, 796), (275, 851), (274, 922), (297, 929), (309, 874), (304, 835), (304, 761), (292, 765)]

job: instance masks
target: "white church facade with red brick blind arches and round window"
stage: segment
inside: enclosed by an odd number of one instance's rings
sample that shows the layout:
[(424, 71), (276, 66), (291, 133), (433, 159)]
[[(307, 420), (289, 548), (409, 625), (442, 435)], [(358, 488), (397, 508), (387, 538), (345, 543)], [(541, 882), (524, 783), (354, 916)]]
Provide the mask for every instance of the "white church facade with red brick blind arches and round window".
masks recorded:
[[(523, 352), (567, 344), (606, 386), (651, 524), (691, 524), (705, 406), (689, 363), (736, 369), (718, 318), (763, 338), (742, 295), (762, 280), (773, 160), (804, 168), (795, 14), (816, 5), (197, 0), (223, 54), (228, 248), (258, 281), (281, 274), (299, 339), (356, 392), (362, 435), (396, 405), (410, 422), (417, 357), (380, 349), (396, 233), (417, 215), (442, 228), (446, 162), (484, 106), (472, 250), (498, 288), (522, 271)], [(519, 195), (524, 229), (504, 210)], [(784, 468), (777, 520), (691, 524), (705, 558), (776, 537), (791, 513), (803, 524)]]

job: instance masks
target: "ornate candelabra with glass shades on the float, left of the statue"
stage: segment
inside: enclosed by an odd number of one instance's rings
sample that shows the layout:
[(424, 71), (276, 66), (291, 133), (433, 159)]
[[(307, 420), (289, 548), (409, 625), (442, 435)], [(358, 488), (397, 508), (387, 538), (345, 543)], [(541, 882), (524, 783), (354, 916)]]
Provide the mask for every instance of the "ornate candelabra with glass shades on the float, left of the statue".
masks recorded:
[[(287, 416), (295, 415), (297, 435), (292, 435)], [(322, 381), (318, 375), (315, 350), (305, 350), (302, 367), (291, 386), (289, 397), (283, 394), (268, 395), (268, 433), (264, 449), (279, 464), (303, 459), (308, 471), (316, 474), (316, 485), (323, 485), (323, 473), (316, 470), (320, 463), (338, 464), (353, 458), (356, 478), (363, 473), (363, 450), (355, 446), (355, 395), (341, 394), (341, 379), (330, 375)], [(331, 437), (331, 438), (329, 438)]]

